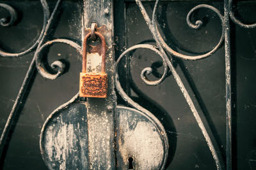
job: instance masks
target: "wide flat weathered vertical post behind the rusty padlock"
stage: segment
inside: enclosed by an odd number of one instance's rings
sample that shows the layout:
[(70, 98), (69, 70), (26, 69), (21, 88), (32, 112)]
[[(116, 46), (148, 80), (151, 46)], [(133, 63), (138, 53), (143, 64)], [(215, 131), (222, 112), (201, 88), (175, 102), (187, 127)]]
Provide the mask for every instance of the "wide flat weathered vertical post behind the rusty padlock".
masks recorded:
[(83, 31), (88, 31), (92, 22), (97, 22), (97, 31), (103, 34), (108, 48), (106, 52), (108, 96), (106, 99), (90, 97), (87, 99), (89, 169), (115, 169), (114, 108), (116, 96), (113, 81), (115, 55), (113, 2), (111, 0), (83, 0)]

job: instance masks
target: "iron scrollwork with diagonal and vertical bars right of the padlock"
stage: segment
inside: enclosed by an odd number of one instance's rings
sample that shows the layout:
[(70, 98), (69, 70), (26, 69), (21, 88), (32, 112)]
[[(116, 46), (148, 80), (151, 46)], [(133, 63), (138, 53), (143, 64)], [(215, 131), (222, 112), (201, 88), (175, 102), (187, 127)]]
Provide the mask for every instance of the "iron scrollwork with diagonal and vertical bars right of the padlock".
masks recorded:
[[(121, 85), (120, 85), (120, 81), (118, 78), (118, 64), (120, 63), (120, 60), (129, 52), (131, 52), (132, 50), (136, 50), (138, 48), (147, 48), (149, 50), (153, 50), (154, 52), (157, 53), (157, 55), (159, 55), (161, 57), (161, 59), (163, 60), (163, 66), (164, 66), (164, 73), (163, 76), (161, 76), (161, 78), (159, 78), (159, 80), (156, 81), (150, 81), (147, 78), (147, 75), (152, 73), (152, 68), (151, 67), (145, 67), (142, 71), (141, 71), (141, 80), (143, 80), (147, 85), (159, 85), (159, 83), (161, 83), (164, 78), (166, 78), (167, 74), (168, 74), (168, 68), (170, 69), (170, 71), (172, 72), (173, 78), (175, 79), (175, 81), (177, 82), (177, 85), (179, 86), (182, 94), (184, 95), (187, 103), (189, 104), (189, 107), (196, 119), (196, 122), (198, 123), (202, 134), (204, 135), (205, 141), (207, 142), (207, 145), (209, 146), (209, 150), (212, 153), (212, 157), (216, 163), (216, 168), (217, 169), (225, 169), (225, 165), (223, 165), (223, 160), (220, 158), (220, 155), (216, 152), (216, 149), (214, 147), (214, 145), (212, 144), (212, 140), (209, 137), (209, 134), (207, 132), (207, 130), (205, 129), (204, 123), (202, 122), (202, 119), (200, 118), (200, 115), (198, 114), (198, 111), (195, 108), (195, 105), (191, 99), (191, 97), (188, 94), (188, 91), (186, 90), (186, 88), (184, 87), (184, 84), (182, 83), (182, 80), (180, 79), (179, 74), (177, 73), (175, 67), (173, 66), (172, 63), (172, 57), (179, 57), (180, 59), (185, 59), (185, 60), (200, 60), (200, 59), (204, 59), (206, 57), (211, 56), (214, 52), (216, 52), (216, 50), (218, 50), (218, 48), (220, 48), (221, 44), (223, 43), (223, 39), (225, 38), (225, 48), (226, 50), (226, 96), (227, 96), (227, 169), (231, 169), (231, 110), (230, 108), (230, 103), (231, 103), (231, 90), (230, 90), (230, 48), (229, 48), (229, 44), (230, 44), (230, 39), (229, 39), (229, 33), (227, 36), (227, 30), (228, 32), (230, 31), (230, 27), (229, 27), (229, 21), (228, 21), (228, 17), (230, 17), (232, 19), (232, 21), (237, 24), (240, 25), (241, 27), (245, 27), (245, 28), (253, 28), (256, 27), (256, 24), (250, 24), (250, 25), (246, 25), (243, 24), (242, 22), (240, 22), (239, 20), (236, 19), (236, 17), (234, 17), (234, 13), (232, 12), (232, 0), (227, 0), (225, 1), (226, 3), (228, 3), (228, 8), (227, 6), (225, 6), (225, 10), (229, 10), (228, 11), (228, 16), (225, 13), (225, 17), (223, 15), (221, 15), (220, 10), (214, 8), (214, 6), (208, 5), (208, 4), (199, 4), (197, 6), (195, 6), (194, 8), (192, 8), (186, 18), (186, 22), (189, 25), (189, 27), (191, 27), (192, 29), (199, 29), (203, 22), (202, 20), (196, 20), (195, 24), (193, 22), (191, 22), (191, 15), (194, 11), (201, 9), (201, 8), (207, 8), (209, 10), (214, 11), (218, 17), (221, 20), (221, 28), (222, 28), (222, 32), (221, 32), (221, 38), (220, 41), (218, 42), (218, 44), (212, 48), (212, 50), (210, 50), (207, 53), (204, 53), (202, 55), (184, 55), (182, 53), (176, 52), (175, 50), (173, 50), (170, 46), (168, 46), (165, 42), (163, 37), (161, 36), (159, 29), (157, 27), (157, 21), (156, 21), (156, 10), (157, 10), (157, 4), (159, 3), (159, 0), (156, 0), (156, 3), (154, 5), (154, 10), (152, 13), (152, 20), (150, 20), (150, 17), (147, 14), (147, 11), (145, 10), (143, 4), (141, 3), (141, 0), (136, 0), (136, 3), (138, 5), (138, 7), (140, 8), (140, 11), (145, 19), (145, 22), (148, 25), (148, 29), (150, 29), (150, 32), (152, 33), (152, 36), (154, 38), (154, 40), (156, 41), (156, 45), (157, 46), (152, 46), (152, 45), (148, 45), (148, 44), (140, 44), (140, 45), (134, 45), (131, 46), (130, 48), (128, 48), (127, 50), (125, 50), (120, 57), (118, 58), (118, 60), (116, 61), (116, 66), (115, 66), (115, 85), (116, 85), (116, 90), (118, 91), (118, 93), (120, 94), (120, 96), (124, 99), (124, 101), (126, 101), (129, 105), (131, 105), (134, 108), (137, 108), (140, 111), (143, 111), (144, 113), (147, 113), (147, 110), (145, 110), (145, 108), (141, 107), (138, 103), (135, 103), (134, 101), (132, 101), (132, 99), (124, 92), (124, 89), (122, 89)], [(225, 4), (226, 4), (225, 3)], [(228, 22), (228, 24), (227, 24)], [(171, 56), (170, 58), (168, 57), (167, 53), (169, 53), (169, 55)]]

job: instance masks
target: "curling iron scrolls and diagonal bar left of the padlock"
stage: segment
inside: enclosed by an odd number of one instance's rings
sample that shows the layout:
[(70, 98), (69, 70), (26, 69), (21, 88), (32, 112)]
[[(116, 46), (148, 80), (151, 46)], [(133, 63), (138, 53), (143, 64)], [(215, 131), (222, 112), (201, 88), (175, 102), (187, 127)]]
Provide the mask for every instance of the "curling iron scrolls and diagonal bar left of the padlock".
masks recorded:
[[(0, 156), (2, 156), (4, 143), (6, 142), (6, 138), (8, 137), (8, 134), (10, 132), (10, 128), (12, 127), (12, 122), (15, 119), (15, 115), (17, 114), (17, 111), (20, 108), (20, 104), (22, 102), (24, 94), (26, 93), (28, 84), (31, 80), (31, 77), (33, 76), (35, 68), (37, 68), (38, 73), (40, 73), (42, 76), (44, 76), (44, 78), (48, 78), (51, 80), (54, 80), (55, 78), (60, 76), (64, 71), (65, 64), (63, 62), (61, 62), (60, 60), (56, 60), (56, 61), (52, 62), (51, 66), (47, 66), (52, 69), (57, 68), (58, 71), (56, 74), (52, 74), (51, 71), (48, 71), (47, 69), (45, 69), (45, 62), (43, 62), (43, 60), (42, 60), (42, 59), (45, 59), (45, 57), (40, 55), (40, 52), (42, 52), (42, 50), (44, 50), (44, 48), (46, 46), (52, 45), (54, 43), (65, 43), (67, 45), (70, 45), (70, 46), (76, 48), (77, 52), (79, 54), (81, 54), (81, 45), (78, 45), (76, 42), (71, 41), (69, 39), (52, 39), (51, 41), (45, 42), (45, 40), (47, 39), (46, 38), (47, 33), (49, 31), (49, 28), (51, 27), (52, 20), (54, 20), (54, 16), (55, 16), (56, 12), (58, 11), (58, 8), (60, 7), (61, 0), (57, 1), (51, 15), (50, 15), (49, 6), (47, 4), (47, 1), (40, 0), (40, 2), (42, 4), (42, 8), (44, 11), (44, 23), (43, 23), (43, 27), (42, 27), (40, 36), (35, 41), (35, 43), (32, 46), (30, 46), (27, 50), (24, 50), (19, 53), (8, 53), (8, 52), (4, 52), (3, 50), (0, 50), (0, 56), (20, 57), (21, 55), (25, 55), (26, 53), (32, 52), (33, 50), (36, 49), (35, 53), (34, 53), (34, 57), (31, 60), (31, 64), (29, 65), (29, 69), (26, 73), (26, 76), (25, 76), (23, 82), (22, 82), (22, 86), (20, 87), (19, 94), (15, 99), (15, 103), (13, 104), (12, 111), (10, 112), (8, 120), (6, 121), (6, 124), (4, 126), (4, 130), (1, 134)], [(5, 10), (7, 10), (10, 13), (10, 18), (11, 18), (9, 22), (7, 21), (7, 18), (1, 18), (0, 24), (4, 27), (11, 26), (17, 18), (16, 11), (8, 4), (3, 4), (3, 3), (0, 3), (0, 8), (4, 8)]]

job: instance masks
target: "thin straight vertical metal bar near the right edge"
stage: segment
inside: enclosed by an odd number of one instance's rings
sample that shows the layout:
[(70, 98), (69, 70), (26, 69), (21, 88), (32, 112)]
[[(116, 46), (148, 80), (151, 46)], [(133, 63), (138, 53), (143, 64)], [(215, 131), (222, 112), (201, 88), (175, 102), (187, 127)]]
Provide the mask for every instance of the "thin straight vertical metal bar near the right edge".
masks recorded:
[(230, 21), (228, 1), (224, 0), (224, 27), (225, 27), (225, 76), (226, 76), (226, 147), (227, 170), (232, 169), (232, 115), (231, 115), (231, 62), (230, 62)]

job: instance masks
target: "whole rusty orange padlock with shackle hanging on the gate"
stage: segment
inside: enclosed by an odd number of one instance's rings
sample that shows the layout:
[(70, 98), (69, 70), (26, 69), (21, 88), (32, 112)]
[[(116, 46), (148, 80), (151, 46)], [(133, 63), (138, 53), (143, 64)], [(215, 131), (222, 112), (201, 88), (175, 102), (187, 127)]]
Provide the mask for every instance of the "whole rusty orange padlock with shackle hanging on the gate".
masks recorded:
[[(95, 35), (101, 40), (102, 48), (100, 52), (102, 54), (101, 71), (100, 73), (86, 73), (86, 55), (87, 55), (87, 41), (91, 36), (91, 32), (86, 34), (83, 41), (83, 70), (80, 73), (79, 83), (79, 96), (80, 97), (100, 97), (106, 98), (108, 91), (108, 74), (106, 74), (106, 41), (100, 32), (95, 31)], [(99, 49), (99, 48), (98, 48)]]

